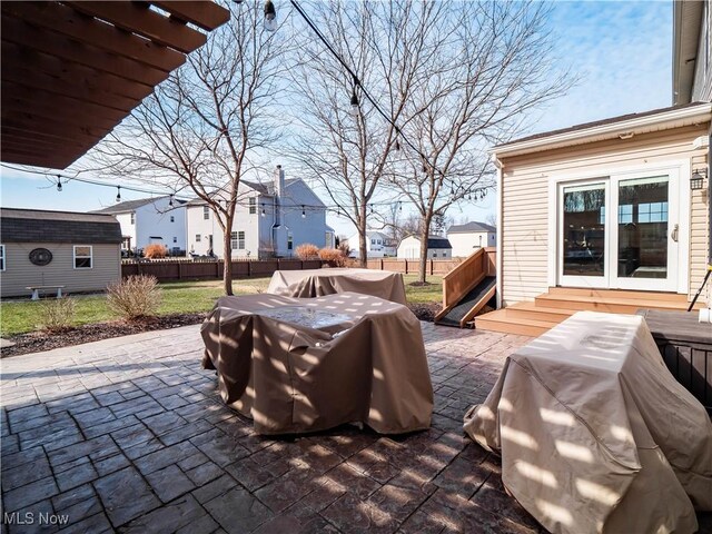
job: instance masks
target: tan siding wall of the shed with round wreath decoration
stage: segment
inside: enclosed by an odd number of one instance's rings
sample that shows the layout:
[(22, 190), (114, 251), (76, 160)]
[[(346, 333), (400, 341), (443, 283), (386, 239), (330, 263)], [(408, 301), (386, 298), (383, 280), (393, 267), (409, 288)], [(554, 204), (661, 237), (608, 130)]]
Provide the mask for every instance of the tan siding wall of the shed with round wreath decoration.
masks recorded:
[[(120, 245), (91, 243), (4, 243), (6, 270), (0, 273), (2, 297), (30, 296), (28, 286), (59, 285), (63, 291), (100, 291), (121, 276)], [(75, 269), (73, 245), (91, 245), (92, 268)], [(39, 267), (29, 259), (36, 248), (52, 253), (52, 261)]]

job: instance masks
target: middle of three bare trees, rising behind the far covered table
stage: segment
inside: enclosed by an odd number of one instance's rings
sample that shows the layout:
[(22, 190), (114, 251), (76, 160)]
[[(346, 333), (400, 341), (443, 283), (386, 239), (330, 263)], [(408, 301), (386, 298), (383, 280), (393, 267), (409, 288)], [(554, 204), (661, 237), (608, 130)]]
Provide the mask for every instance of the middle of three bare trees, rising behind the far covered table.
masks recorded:
[[(431, 3), (424, 11), (443, 11)], [(366, 265), (366, 230), (374, 212), (379, 184), (389, 175), (390, 152), (400, 148), (394, 123), (402, 119), (415, 67), (425, 61), (422, 12), (412, 2), (314, 2), (310, 17), (334, 51), (313, 40), (300, 50), (294, 69), (299, 95), (299, 140), (295, 154), (316, 178), (330, 204), (354, 224), (359, 238), (359, 259)], [(365, 98), (362, 87), (382, 105), (386, 120)], [(352, 97), (359, 106), (352, 108)], [(382, 199), (380, 199), (382, 200)], [(383, 225), (380, 225), (383, 226)]]

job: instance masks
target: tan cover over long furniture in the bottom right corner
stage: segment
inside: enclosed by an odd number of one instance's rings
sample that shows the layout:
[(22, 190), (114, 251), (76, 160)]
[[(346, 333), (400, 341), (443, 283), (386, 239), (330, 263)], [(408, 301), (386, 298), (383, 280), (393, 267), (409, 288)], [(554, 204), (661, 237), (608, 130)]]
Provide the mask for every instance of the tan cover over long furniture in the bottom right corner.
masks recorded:
[(464, 428), (554, 533), (694, 532), (712, 510), (712, 424), (639, 316), (580, 312), (521, 348)]

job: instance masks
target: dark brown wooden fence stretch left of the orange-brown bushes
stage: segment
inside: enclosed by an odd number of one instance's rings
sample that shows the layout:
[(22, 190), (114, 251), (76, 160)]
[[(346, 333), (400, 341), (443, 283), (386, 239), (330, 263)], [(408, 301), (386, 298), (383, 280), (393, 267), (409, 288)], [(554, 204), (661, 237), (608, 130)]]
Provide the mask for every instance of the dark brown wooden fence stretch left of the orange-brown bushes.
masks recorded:
[[(318, 269), (326, 261), (320, 259), (254, 259), (234, 260), (233, 276), (235, 278), (266, 277), (271, 276), (276, 270), (303, 270)], [(121, 277), (134, 275), (152, 275), (158, 281), (168, 280), (195, 280), (222, 278), (222, 260), (140, 260), (122, 261)]]

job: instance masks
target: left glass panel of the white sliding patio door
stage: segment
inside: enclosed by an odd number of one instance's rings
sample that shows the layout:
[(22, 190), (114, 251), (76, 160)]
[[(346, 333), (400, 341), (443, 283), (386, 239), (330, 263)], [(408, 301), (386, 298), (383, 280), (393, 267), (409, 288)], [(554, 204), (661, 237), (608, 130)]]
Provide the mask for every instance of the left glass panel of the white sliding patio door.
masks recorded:
[(561, 189), (562, 285), (606, 284), (606, 184), (563, 185)]

